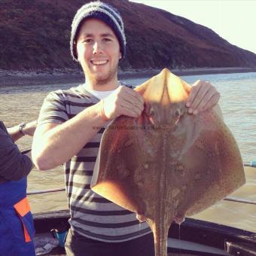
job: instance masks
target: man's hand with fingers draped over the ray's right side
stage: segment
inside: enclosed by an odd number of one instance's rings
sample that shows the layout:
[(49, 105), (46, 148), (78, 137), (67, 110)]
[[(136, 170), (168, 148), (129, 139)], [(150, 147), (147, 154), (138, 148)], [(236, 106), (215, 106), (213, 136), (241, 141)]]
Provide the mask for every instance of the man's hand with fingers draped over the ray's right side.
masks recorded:
[(218, 103), (220, 93), (212, 84), (206, 81), (196, 81), (190, 90), (186, 106), (188, 113), (198, 114), (200, 111), (212, 108)]

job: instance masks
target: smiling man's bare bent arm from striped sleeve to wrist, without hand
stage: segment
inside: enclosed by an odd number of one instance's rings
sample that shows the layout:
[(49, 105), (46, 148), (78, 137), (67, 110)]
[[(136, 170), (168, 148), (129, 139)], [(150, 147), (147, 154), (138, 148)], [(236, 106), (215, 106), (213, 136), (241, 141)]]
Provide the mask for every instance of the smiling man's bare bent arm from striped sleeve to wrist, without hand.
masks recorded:
[(78, 153), (95, 136), (105, 121), (101, 116), (101, 104), (84, 109), (65, 123), (44, 131), (44, 125), (35, 131), (32, 160), (38, 169), (52, 169), (65, 163)]

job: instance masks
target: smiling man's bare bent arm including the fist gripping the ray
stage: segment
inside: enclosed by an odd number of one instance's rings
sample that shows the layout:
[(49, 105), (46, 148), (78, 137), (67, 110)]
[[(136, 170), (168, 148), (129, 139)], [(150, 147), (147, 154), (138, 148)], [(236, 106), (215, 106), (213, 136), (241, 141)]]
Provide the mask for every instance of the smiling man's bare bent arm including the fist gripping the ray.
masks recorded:
[[(84, 109), (64, 123), (39, 124), (32, 143), (32, 160), (38, 169), (52, 169), (72, 158), (105, 124), (106, 119), (125, 114), (139, 117), (144, 108), (142, 96), (120, 87), (103, 101)], [(104, 115), (104, 118), (102, 116)]]

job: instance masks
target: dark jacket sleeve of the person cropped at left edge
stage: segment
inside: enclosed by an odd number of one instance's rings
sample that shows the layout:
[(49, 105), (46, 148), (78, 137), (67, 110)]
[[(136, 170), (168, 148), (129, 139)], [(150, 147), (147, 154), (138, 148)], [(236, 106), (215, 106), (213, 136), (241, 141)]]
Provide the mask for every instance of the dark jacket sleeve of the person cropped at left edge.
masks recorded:
[(26, 177), (31, 169), (31, 160), (20, 152), (0, 120), (0, 184), (18, 181)]

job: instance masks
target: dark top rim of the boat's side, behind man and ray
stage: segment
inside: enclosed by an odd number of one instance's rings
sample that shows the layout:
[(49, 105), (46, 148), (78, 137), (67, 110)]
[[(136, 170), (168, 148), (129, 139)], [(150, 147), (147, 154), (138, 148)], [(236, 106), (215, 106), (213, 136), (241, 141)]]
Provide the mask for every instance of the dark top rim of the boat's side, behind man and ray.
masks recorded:
[[(69, 228), (69, 210), (41, 212), (33, 216), (36, 233), (50, 232), (53, 228), (58, 229), (55, 226), (59, 226), (60, 229)], [(47, 227), (50, 229), (47, 230)], [(254, 232), (195, 218), (186, 218), (181, 224), (180, 230), (178, 224), (172, 224), (169, 228), (168, 237), (196, 242), (200, 245), (208, 245), (222, 250), (224, 250), (226, 242), (246, 243), (256, 247), (256, 233)]]

